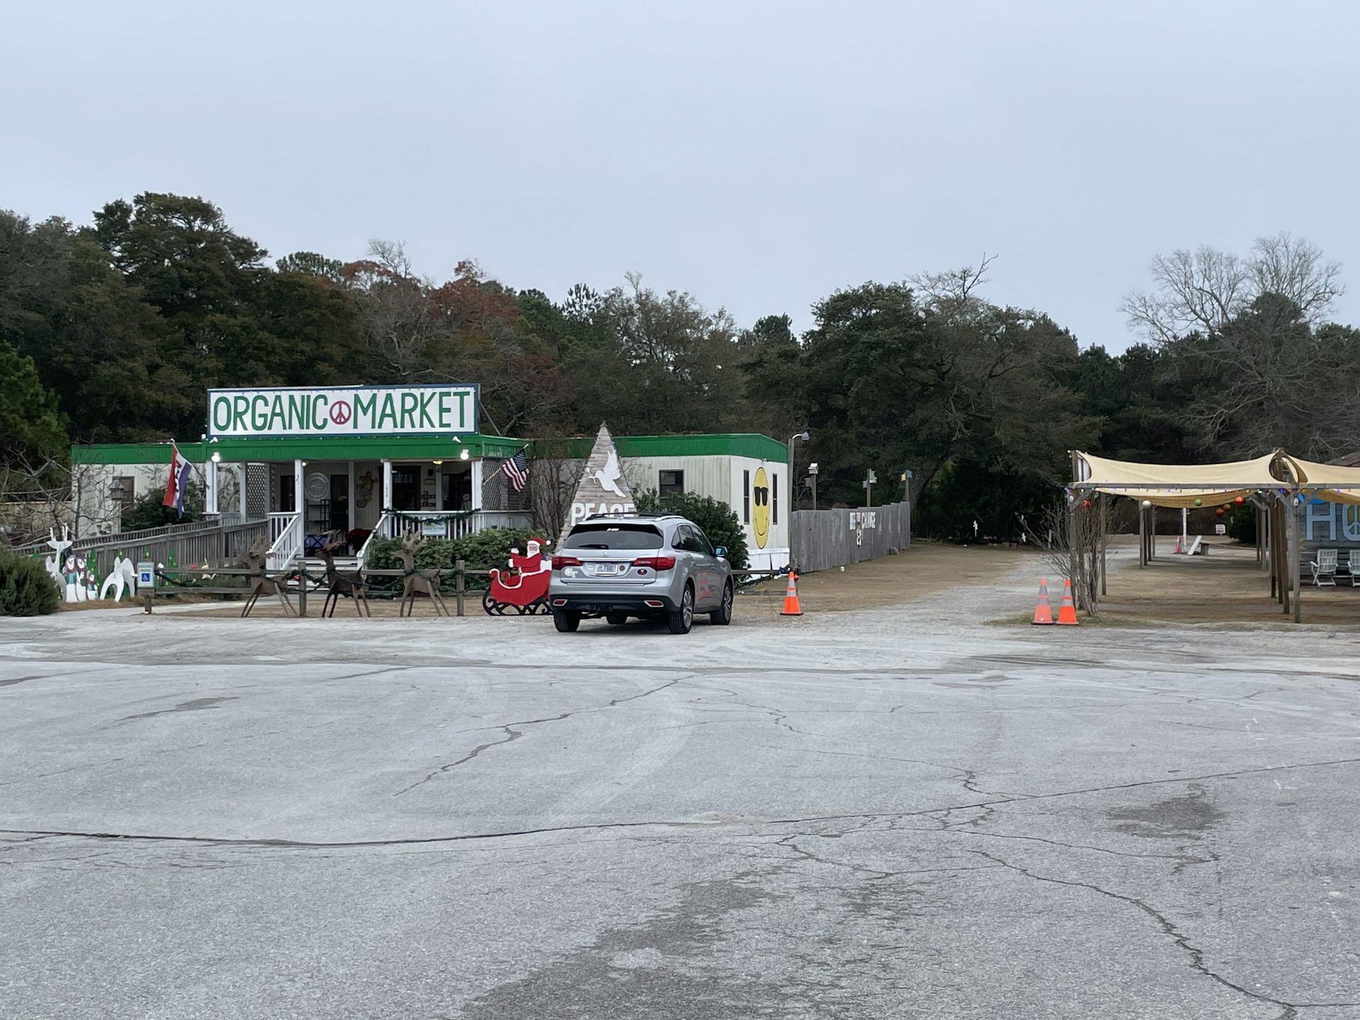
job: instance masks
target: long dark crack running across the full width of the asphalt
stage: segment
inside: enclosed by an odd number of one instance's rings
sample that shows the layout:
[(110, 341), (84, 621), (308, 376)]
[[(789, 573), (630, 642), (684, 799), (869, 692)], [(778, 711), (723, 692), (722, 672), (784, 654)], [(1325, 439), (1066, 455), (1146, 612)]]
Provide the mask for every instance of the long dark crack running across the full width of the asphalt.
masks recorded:
[[(679, 683), (673, 680), (672, 684)], [(669, 687), (672, 684), (665, 684)], [(662, 688), (654, 688), (653, 692)], [(600, 706), (607, 707), (607, 706)], [(589, 711), (582, 709), (579, 711)], [(525, 724), (510, 724), (510, 725), (525, 725)], [(503, 744), (506, 741), (496, 741)], [(760, 828), (766, 826), (804, 826), (821, 821), (846, 821), (853, 819), (910, 819), (910, 817), (929, 817), (933, 815), (942, 815), (955, 811), (968, 811), (978, 808), (990, 808), (998, 804), (1030, 804), (1032, 801), (1055, 800), (1061, 797), (1078, 797), (1087, 793), (1104, 793), (1108, 790), (1132, 790), (1142, 786), (1166, 786), (1168, 783), (1190, 783), (1200, 782), (1204, 779), (1227, 779), (1238, 778), (1243, 775), (1263, 775), (1270, 772), (1285, 772), (1295, 768), (1326, 768), (1329, 766), (1338, 764), (1355, 764), (1360, 762), (1360, 758), (1340, 758), (1327, 762), (1295, 762), (1293, 764), (1278, 764), (1278, 766), (1265, 766), (1262, 768), (1239, 768), (1227, 772), (1206, 772), (1204, 775), (1179, 775), (1170, 779), (1142, 779), (1126, 783), (1111, 783), (1108, 786), (1088, 786), (1078, 790), (1057, 790), (1054, 793), (1036, 793), (1028, 797), (1016, 800), (1006, 797), (996, 801), (978, 801), (975, 804), (955, 804), (944, 805), (936, 808), (919, 808), (917, 811), (857, 811), (845, 812), (839, 815), (811, 815), (804, 817), (793, 819), (749, 819), (743, 821), (681, 821), (681, 820), (645, 820), (645, 821), (600, 821), (579, 826), (548, 826), (543, 828), (524, 828), (524, 830), (503, 830), (498, 832), (468, 832), (462, 835), (453, 836), (409, 836), (400, 839), (351, 839), (351, 840), (301, 840), (301, 839), (280, 839), (280, 838), (250, 838), (250, 839), (231, 839), (222, 836), (170, 836), (170, 835), (155, 835), (155, 834), (137, 834), (137, 832), (91, 832), (82, 830), (42, 830), (42, 828), (0, 828), (0, 835), (20, 835), (20, 836), (72, 836), (79, 839), (125, 839), (125, 840), (141, 840), (141, 842), (166, 842), (166, 843), (205, 843), (205, 845), (220, 845), (220, 846), (284, 846), (284, 847), (298, 847), (298, 849), (336, 849), (336, 847), (381, 847), (381, 846), (408, 846), (418, 843), (456, 843), (466, 842), (475, 839), (509, 839), (514, 836), (532, 836), (544, 832), (583, 832), (592, 830), (605, 830), (605, 828), (649, 828), (649, 827), (662, 827), (662, 828), (733, 828), (737, 826), (744, 826), (747, 828)], [(970, 853), (982, 853), (970, 851)]]

